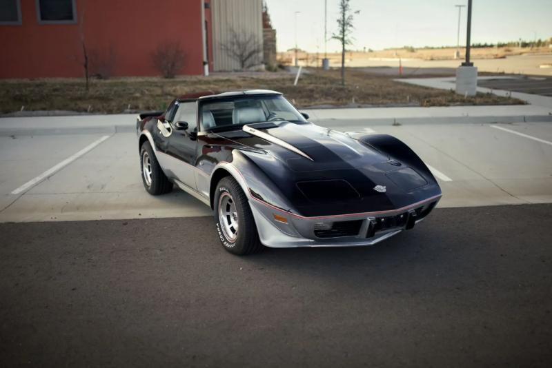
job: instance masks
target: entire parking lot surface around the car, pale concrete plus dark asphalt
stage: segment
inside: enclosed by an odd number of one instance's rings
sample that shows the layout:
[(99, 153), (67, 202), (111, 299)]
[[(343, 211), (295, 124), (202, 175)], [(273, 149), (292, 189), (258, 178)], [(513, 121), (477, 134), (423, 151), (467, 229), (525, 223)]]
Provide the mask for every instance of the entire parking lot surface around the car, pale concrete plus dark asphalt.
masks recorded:
[(439, 207), (374, 247), (239, 258), (208, 207), (146, 194), (134, 133), (0, 136), (0, 367), (549, 367), (550, 123), (320, 123), (404, 140)]

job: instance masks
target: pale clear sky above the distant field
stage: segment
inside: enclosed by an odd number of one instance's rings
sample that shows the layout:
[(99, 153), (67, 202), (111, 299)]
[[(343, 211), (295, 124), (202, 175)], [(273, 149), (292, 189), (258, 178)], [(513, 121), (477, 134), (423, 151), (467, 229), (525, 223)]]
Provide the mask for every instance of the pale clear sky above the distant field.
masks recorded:
[[(324, 0), (264, 0), (277, 32), (277, 49), (297, 46), (324, 52)], [(337, 30), (339, 0), (328, 1), (328, 38)], [(360, 10), (353, 24), (355, 41), (349, 49), (382, 50), (456, 45), (458, 9), (464, 4), (460, 45), (466, 43), (467, 0), (351, 0)], [(552, 0), (473, 0), (472, 43), (552, 37)], [(340, 50), (338, 41), (327, 43), (328, 52)]]

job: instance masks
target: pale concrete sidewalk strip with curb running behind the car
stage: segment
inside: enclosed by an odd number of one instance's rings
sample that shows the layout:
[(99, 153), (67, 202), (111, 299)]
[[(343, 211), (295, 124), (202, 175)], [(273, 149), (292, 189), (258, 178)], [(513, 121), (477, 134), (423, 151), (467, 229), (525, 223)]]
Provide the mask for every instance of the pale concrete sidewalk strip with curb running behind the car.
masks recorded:
[[(552, 107), (540, 105), (344, 108), (304, 111), (314, 122), (339, 120), (352, 125), (552, 121)], [(6, 117), (0, 118), (0, 136), (135, 132), (136, 117), (137, 114)]]

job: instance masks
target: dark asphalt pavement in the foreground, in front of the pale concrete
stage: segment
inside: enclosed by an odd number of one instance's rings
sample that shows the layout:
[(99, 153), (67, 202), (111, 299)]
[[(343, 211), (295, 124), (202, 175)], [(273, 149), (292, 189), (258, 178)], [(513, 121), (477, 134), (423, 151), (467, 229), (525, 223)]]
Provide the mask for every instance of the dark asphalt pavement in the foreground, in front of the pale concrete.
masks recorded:
[(240, 258), (208, 217), (0, 224), (0, 366), (549, 367), (551, 227), (552, 205), (436, 209)]

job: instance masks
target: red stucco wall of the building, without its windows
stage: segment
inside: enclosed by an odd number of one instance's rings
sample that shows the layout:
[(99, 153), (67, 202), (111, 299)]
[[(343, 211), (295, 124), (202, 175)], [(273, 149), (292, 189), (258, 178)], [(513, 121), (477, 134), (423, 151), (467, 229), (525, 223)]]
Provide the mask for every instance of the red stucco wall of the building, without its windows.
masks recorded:
[[(77, 0), (77, 23), (39, 24), (34, 0), (21, 0), (22, 25), (0, 25), (0, 78), (83, 76), (88, 54), (111, 60), (113, 76), (155, 76), (150, 54), (179, 41), (186, 64), (202, 74), (200, 0)], [(210, 27), (210, 14), (206, 12)]]

